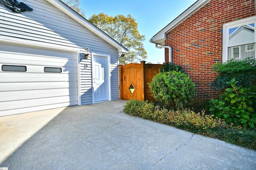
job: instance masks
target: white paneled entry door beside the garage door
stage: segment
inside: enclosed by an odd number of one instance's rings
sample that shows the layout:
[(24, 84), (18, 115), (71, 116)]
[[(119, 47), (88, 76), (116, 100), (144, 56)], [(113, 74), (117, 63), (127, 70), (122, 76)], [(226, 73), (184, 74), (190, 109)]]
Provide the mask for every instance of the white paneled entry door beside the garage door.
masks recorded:
[(94, 55), (94, 102), (109, 100), (108, 57)]

